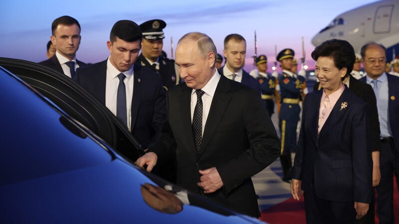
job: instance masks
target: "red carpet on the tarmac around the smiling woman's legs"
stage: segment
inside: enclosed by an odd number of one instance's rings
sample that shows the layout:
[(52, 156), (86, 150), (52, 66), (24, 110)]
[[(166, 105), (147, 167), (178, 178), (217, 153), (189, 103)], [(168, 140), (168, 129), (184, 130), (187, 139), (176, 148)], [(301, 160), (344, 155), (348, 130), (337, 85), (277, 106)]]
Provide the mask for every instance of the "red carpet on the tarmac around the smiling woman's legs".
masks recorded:
[[(399, 192), (394, 179), (395, 223), (399, 224)], [(260, 220), (269, 224), (306, 224), (305, 207), (302, 201), (293, 198), (261, 211)], [(376, 212), (376, 224), (379, 224)]]

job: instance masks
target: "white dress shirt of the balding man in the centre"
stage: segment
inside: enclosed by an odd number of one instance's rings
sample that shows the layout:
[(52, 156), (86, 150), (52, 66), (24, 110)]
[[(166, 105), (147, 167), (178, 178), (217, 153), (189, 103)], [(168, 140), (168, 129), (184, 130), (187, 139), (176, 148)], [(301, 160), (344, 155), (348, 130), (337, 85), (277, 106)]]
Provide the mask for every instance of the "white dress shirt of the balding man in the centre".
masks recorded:
[[(217, 83), (220, 80), (219, 73), (215, 72), (209, 82), (201, 89), (205, 92), (202, 95), (202, 135), (203, 131), (205, 130), (205, 123), (206, 119), (208, 118), (210, 105), (212, 104), (212, 99), (216, 91)], [(194, 110), (196, 109), (197, 105), (197, 94), (196, 90), (192, 90), (191, 92), (191, 122), (193, 122)]]

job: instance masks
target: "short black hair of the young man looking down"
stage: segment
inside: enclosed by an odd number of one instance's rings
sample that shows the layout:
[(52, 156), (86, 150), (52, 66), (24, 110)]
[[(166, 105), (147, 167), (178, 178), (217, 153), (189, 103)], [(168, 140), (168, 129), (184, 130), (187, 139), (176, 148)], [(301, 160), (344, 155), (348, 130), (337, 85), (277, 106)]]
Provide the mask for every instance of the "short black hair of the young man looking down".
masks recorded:
[(131, 20), (119, 20), (111, 29), (109, 40), (116, 41), (116, 37), (126, 42), (134, 42), (143, 39), (143, 33), (137, 23)]

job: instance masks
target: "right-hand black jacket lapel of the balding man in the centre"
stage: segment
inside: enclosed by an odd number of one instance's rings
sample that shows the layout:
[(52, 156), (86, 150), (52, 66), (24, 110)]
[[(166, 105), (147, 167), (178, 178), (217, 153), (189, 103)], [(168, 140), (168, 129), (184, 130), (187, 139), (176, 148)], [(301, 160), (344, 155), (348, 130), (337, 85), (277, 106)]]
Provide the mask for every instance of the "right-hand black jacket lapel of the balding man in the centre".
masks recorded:
[(221, 75), (212, 99), (212, 104), (210, 105), (209, 115), (206, 119), (198, 159), (205, 151), (210, 139), (213, 136), (213, 133), (216, 130), (217, 125), (219, 124), (219, 121), (226, 110), (226, 106), (230, 99), (230, 96), (228, 96), (226, 93), (229, 90), (230, 84), (228, 83), (228, 79)]

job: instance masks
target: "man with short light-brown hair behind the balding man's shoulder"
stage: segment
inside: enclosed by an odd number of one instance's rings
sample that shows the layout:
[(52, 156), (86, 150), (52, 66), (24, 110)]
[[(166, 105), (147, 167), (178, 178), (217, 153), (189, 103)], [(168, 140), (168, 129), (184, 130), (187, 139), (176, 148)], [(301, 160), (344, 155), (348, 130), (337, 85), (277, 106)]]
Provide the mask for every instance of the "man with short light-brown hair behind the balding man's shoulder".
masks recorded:
[(220, 75), (252, 87), (260, 94), (259, 82), (242, 69), (245, 64), (246, 55), (246, 41), (244, 37), (239, 34), (229, 34), (224, 38), (224, 57), (226, 63), (217, 71)]

